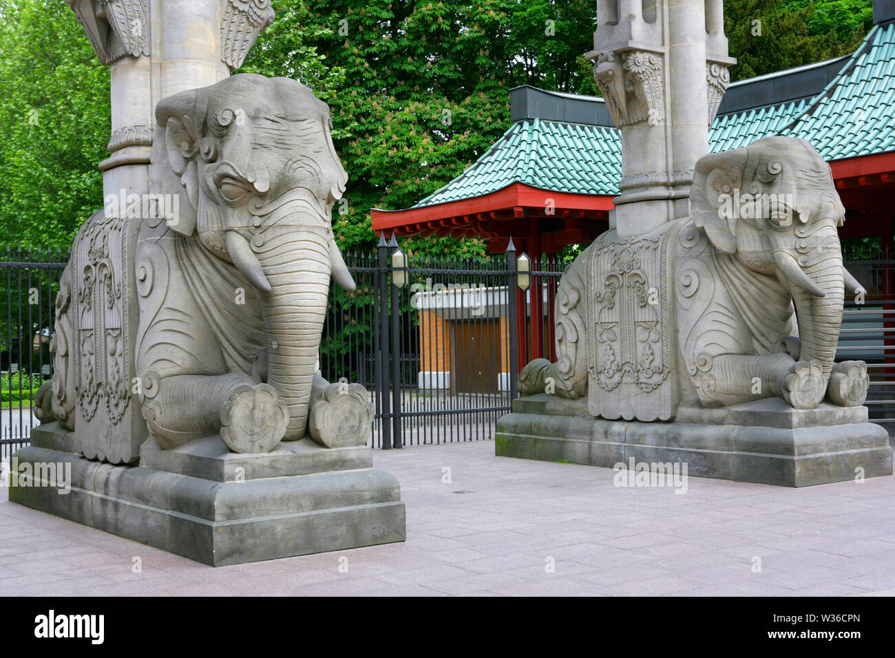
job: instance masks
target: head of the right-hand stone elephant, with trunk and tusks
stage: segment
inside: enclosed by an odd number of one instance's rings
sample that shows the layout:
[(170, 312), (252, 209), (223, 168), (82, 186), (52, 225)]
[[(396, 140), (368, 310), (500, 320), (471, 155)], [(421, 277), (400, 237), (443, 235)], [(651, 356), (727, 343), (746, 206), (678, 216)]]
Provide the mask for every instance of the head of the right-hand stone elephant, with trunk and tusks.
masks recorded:
[(695, 225), (719, 252), (779, 279), (791, 295), (801, 338), (797, 358), (820, 365), (823, 393), (844, 290), (863, 290), (842, 266), (836, 229), (845, 209), (830, 167), (805, 140), (766, 137), (700, 158), (690, 203)]

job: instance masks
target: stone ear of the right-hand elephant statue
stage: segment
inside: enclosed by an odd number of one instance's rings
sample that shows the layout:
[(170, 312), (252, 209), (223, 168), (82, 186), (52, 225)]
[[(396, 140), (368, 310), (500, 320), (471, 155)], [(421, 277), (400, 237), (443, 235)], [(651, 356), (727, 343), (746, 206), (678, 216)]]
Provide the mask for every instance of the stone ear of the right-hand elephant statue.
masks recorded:
[(720, 251), (737, 251), (737, 213), (731, 212), (735, 191), (743, 187), (746, 149), (725, 150), (699, 158), (690, 186), (690, 212)]

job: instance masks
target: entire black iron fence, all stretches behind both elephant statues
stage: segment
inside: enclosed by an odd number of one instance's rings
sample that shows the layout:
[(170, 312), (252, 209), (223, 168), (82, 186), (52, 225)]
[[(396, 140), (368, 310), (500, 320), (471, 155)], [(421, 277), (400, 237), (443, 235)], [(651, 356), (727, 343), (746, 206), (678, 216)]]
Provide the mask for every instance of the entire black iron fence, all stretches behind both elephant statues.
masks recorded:
[[(839, 359), (867, 362), (871, 418), (895, 429), (895, 260), (847, 251), (867, 288), (849, 297)], [(52, 374), (49, 341), (61, 250), (0, 251), (0, 449), (28, 442), (31, 402)], [(510, 245), (478, 260), (433, 259), (381, 240), (346, 263), (357, 288), (333, 286), (320, 346), (330, 381), (362, 383), (377, 448), (492, 438), (516, 397), (524, 363), (555, 359), (553, 309), (564, 263), (531, 261)], [(3, 289), (5, 286), (5, 289)]]

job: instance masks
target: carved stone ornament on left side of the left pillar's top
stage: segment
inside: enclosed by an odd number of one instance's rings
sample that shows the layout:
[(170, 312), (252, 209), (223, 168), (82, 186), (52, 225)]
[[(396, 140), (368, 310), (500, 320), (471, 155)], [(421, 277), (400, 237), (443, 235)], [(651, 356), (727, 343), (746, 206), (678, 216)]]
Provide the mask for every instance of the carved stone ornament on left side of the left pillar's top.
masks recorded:
[(149, 0), (65, 0), (103, 64), (149, 55)]

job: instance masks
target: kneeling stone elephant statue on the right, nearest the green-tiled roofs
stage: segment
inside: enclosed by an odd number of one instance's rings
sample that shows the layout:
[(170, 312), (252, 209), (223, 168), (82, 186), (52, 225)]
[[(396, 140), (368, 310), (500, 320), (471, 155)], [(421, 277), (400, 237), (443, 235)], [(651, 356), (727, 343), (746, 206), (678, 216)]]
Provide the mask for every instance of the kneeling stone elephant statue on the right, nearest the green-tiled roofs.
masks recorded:
[(864, 289), (842, 265), (845, 209), (814, 147), (768, 137), (704, 156), (690, 209), (578, 256), (558, 289), (558, 360), (526, 365), (519, 391), (642, 421), (762, 397), (864, 404), (865, 363), (834, 363), (844, 295)]

